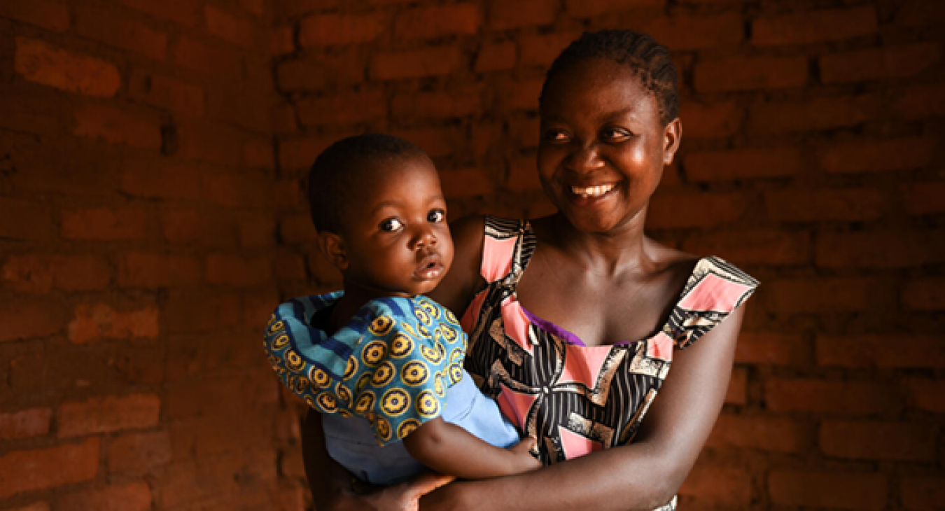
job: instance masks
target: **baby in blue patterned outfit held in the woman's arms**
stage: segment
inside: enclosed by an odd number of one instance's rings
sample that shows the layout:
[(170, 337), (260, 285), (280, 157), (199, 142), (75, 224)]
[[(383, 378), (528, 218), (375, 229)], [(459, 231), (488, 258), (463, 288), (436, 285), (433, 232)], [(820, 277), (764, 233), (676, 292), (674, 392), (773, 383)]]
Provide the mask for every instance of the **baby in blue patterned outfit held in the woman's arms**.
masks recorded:
[(321, 412), (329, 455), (390, 485), (423, 466), (466, 479), (539, 468), (463, 369), (466, 333), (422, 295), (453, 262), (433, 162), (388, 135), (343, 139), (309, 176), (318, 248), (344, 290), (289, 300), (266, 328), (285, 386)]

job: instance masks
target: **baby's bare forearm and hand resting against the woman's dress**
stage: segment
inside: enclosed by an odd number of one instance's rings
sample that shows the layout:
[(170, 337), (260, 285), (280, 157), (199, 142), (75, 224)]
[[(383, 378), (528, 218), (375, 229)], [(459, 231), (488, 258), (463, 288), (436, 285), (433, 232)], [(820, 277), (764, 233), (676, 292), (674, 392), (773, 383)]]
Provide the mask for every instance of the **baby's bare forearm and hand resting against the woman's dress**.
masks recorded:
[(462, 479), (485, 479), (541, 467), (528, 450), (535, 443), (526, 438), (510, 449), (480, 440), (468, 431), (437, 417), (404, 437), (410, 455), (428, 468)]

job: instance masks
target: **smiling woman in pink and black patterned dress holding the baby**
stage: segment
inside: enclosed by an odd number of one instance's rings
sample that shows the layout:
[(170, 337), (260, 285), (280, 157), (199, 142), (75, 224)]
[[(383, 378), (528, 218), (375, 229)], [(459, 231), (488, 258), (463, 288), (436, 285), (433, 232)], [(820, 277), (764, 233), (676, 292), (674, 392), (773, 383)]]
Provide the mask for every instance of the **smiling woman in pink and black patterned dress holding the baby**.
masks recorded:
[[(538, 437), (546, 467), (443, 485), (422, 509), (675, 509), (724, 401), (738, 306), (757, 284), (644, 235), (649, 198), (679, 147), (676, 82), (669, 52), (648, 36), (584, 34), (541, 91), (538, 167), (558, 213), (453, 227), (455, 263), (431, 298), (465, 311), (467, 368)], [(444, 483), (354, 494), (332, 475), (309, 416), (319, 510), (410, 508)]]

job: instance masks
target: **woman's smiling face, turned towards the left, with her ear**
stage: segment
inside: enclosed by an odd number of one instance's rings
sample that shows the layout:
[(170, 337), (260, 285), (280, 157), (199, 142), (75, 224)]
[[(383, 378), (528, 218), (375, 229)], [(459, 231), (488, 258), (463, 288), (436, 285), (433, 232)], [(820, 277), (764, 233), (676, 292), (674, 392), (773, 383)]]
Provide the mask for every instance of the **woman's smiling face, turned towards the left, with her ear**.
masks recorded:
[(541, 185), (578, 230), (610, 232), (635, 218), (642, 222), (679, 134), (679, 120), (662, 126), (656, 97), (627, 65), (576, 62), (545, 87)]

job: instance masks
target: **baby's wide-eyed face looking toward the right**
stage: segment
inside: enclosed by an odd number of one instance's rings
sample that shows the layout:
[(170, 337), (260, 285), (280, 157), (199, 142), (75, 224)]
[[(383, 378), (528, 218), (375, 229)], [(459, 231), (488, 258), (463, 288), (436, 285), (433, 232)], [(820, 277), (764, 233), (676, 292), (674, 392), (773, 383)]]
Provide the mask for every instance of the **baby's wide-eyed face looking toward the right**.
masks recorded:
[(345, 208), (345, 281), (379, 296), (413, 296), (437, 287), (453, 263), (446, 201), (433, 163), (395, 158), (369, 173)]

